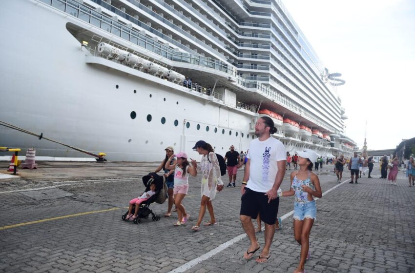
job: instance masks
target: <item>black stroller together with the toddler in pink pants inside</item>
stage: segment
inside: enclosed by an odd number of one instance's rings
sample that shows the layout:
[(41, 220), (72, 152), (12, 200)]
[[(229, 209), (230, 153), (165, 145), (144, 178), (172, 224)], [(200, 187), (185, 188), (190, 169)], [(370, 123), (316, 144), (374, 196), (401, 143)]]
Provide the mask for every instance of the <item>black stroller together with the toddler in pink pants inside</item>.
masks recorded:
[[(145, 185), (145, 192), (137, 198), (132, 199), (129, 202), (128, 211), (122, 216), (125, 221), (133, 220), (134, 223), (141, 223), (140, 218), (148, 218), (148, 215), (153, 215), (153, 221), (159, 221), (160, 216), (155, 215), (149, 206), (153, 202), (164, 203), (166, 200), (166, 187), (163, 181), (163, 176), (159, 176), (155, 173), (150, 173), (143, 177), (143, 183)], [(134, 212), (134, 214), (132, 214)]]

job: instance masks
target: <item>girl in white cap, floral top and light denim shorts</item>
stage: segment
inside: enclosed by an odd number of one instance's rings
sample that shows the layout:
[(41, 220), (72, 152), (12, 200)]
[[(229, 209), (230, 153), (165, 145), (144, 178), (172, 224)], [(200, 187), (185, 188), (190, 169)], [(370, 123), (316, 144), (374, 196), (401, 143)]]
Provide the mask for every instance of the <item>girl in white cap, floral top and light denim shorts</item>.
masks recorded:
[(320, 180), (311, 172), (317, 154), (312, 150), (297, 152), (298, 172), (291, 173), (291, 187), (281, 196), (295, 195), (294, 202), (294, 238), (301, 246), (300, 262), (294, 273), (303, 273), (304, 263), (310, 258), (309, 237), (317, 215), (317, 207), (313, 196), (321, 198)]

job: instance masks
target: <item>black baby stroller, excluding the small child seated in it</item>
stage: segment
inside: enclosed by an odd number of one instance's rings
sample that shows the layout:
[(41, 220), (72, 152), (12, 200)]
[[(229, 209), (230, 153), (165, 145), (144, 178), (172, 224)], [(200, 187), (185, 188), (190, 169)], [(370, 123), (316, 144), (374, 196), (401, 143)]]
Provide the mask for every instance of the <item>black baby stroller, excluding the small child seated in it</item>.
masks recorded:
[[(149, 173), (146, 176), (143, 176), (143, 184), (145, 186), (145, 192), (150, 190), (151, 183), (155, 183), (157, 187), (156, 194), (145, 200), (143, 203), (140, 204), (140, 208), (138, 210), (137, 218), (134, 219), (135, 224), (141, 223), (141, 218), (148, 218), (148, 215), (152, 215), (153, 221), (160, 221), (160, 215), (155, 215), (152, 210), (149, 209), (151, 203), (156, 202), (159, 204), (163, 204), (166, 199), (168, 198), (167, 195), (167, 185), (164, 182), (164, 176), (159, 176), (156, 173)], [(135, 210), (135, 204), (133, 205), (133, 211)], [(124, 221), (128, 214), (128, 211), (121, 217)]]

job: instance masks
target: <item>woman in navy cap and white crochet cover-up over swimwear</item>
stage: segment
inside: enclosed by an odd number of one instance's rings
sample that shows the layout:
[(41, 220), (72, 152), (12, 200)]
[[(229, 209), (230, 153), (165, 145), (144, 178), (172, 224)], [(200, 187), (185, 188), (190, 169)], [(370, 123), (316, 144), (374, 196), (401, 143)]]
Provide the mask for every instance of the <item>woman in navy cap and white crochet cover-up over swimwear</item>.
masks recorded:
[(210, 215), (210, 221), (205, 223), (204, 226), (216, 225), (212, 200), (215, 199), (217, 192), (222, 191), (223, 182), (221, 169), (219, 167), (219, 161), (216, 154), (214, 153), (212, 146), (209, 143), (206, 143), (204, 140), (199, 140), (193, 147), (193, 150), (195, 149), (199, 155), (202, 155), (199, 167), (196, 160), (191, 160), (192, 165), (198, 168), (198, 172), (200, 172), (202, 175), (202, 200), (200, 201), (199, 218), (197, 219), (196, 225), (192, 227), (192, 230), (199, 231), (200, 224), (202, 223), (203, 217), (206, 213), (206, 208)]

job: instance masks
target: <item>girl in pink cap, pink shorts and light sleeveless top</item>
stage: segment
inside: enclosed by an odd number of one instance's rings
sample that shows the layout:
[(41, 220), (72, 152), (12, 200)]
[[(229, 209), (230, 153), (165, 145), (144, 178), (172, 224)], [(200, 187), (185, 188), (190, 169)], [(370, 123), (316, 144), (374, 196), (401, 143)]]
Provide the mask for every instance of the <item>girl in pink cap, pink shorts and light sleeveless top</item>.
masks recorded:
[(187, 161), (187, 154), (185, 152), (180, 152), (177, 155), (172, 155), (169, 159), (172, 160), (174, 156), (177, 158), (177, 163), (174, 165), (169, 165), (167, 161), (165, 167), (168, 170), (174, 170), (173, 196), (178, 216), (178, 221), (174, 224), (174, 226), (180, 226), (182, 224), (186, 224), (187, 220), (190, 217), (190, 215), (186, 212), (186, 208), (183, 206), (182, 201), (183, 198), (185, 198), (187, 195), (187, 191), (189, 189), (189, 175), (196, 176), (197, 170), (194, 166), (190, 166), (189, 162)]

